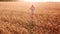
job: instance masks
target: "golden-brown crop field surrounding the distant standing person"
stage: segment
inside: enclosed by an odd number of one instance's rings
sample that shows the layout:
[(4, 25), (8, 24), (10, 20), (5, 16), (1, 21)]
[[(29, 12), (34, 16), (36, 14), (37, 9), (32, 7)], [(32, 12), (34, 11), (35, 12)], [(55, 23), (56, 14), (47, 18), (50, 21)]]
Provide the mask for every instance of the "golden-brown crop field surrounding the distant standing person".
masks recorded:
[(60, 8), (57, 6), (59, 3), (50, 3), (54, 7), (43, 3), (48, 8), (40, 9), (40, 5), (37, 6), (33, 16), (28, 8), (19, 10), (17, 5), (10, 8), (13, 4), (0, 4), (0, 34), (60, 34)]

